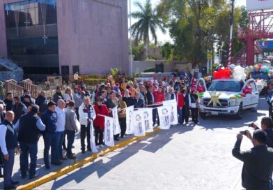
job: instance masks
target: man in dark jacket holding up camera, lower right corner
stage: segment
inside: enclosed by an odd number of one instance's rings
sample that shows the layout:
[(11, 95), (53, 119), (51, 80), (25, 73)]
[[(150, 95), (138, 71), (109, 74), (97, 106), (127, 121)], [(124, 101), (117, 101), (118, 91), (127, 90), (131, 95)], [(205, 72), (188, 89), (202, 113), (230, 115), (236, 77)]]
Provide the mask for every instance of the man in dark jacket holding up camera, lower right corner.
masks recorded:
[(273, 149), (267, 147), (267, 134), (258, 129), (253, 132), (254, 147), (246, 152), (240, 151), (242, 134), (237, 134), (237, 141), (232, 154), (244, 162), (242, 167), (242, 187), (248, 190), (270, 189), (270, 176), (273, 166)]

